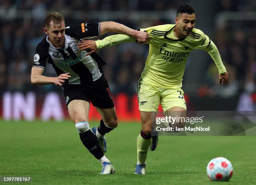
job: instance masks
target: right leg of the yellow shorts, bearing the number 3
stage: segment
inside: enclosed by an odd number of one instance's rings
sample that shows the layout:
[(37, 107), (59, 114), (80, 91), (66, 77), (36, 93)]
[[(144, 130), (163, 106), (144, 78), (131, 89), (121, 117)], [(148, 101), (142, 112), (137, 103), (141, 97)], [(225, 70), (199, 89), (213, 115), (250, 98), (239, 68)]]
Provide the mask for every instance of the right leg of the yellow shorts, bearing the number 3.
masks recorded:
[[(184, 92), (182, 89), (170, 89), (162, 87), (160, 92), (160, 104), (164, 112), (172, 109), (172, 107), (181, 107), (184, 110), (187, 110), (187, 104), (184, 98)], [(182, 109), (182, 110), (183, 110)]]

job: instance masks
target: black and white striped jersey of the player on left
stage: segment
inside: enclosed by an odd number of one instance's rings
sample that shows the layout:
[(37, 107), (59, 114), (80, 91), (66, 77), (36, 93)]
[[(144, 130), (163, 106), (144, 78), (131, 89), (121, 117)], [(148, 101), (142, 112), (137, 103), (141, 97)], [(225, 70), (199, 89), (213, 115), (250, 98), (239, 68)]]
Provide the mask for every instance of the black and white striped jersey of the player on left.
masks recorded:
[(69, 72), (71, 77), (65, 83), (86, 84), (102, 76), (101, 65), (105, 62), (97, 55), (78, 51), (80, 40), (100, 36), (100, 23), (82, 23), (65, 28), (65, 47), (54, 47), (46, 36), (37, 45), (33, 67), (46, 68), (46, 62), (53, 65), (57, 75)]

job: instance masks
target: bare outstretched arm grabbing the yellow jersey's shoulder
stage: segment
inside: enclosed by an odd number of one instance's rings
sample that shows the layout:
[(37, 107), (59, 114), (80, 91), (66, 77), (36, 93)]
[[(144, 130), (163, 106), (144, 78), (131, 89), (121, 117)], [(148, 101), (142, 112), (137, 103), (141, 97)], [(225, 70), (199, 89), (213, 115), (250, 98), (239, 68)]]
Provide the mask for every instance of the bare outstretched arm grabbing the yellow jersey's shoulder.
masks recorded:
[(147, 32), (133, 30), (125, 25), (115, 23), (113, 21), (100, 23), (100, 35), (103, 35), (106, 32), (123, 33), (136, 38), (139, 43), (145, 43), (149, 38)]

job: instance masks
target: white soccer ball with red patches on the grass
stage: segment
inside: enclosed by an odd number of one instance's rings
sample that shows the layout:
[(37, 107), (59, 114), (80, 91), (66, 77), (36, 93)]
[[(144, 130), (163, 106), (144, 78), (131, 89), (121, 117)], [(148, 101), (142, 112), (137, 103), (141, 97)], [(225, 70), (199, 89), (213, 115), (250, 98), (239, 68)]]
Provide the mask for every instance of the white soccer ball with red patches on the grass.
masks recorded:
[(233, 175), (233, 166), (226, 158), (214, 158), (207, 165), (207, 175), (212, 181), (228, 181)]

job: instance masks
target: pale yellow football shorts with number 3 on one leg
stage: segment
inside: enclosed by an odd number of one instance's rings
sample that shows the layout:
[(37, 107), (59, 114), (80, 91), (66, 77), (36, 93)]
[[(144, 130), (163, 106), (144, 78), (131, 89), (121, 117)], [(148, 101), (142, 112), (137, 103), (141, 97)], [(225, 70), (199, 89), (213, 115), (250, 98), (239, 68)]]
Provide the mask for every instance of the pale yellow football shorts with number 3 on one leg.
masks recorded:
[(138, 80), (139, 110), (144, 112), (157, 112), (159, 103), (164, 112), (172, 107), (182, 107), (187, 110), (184, 92), (181, 88), (170, 88), (149, 85)]

